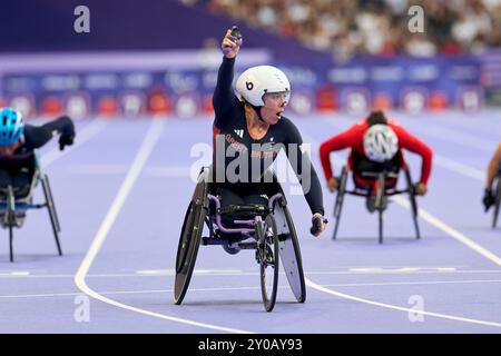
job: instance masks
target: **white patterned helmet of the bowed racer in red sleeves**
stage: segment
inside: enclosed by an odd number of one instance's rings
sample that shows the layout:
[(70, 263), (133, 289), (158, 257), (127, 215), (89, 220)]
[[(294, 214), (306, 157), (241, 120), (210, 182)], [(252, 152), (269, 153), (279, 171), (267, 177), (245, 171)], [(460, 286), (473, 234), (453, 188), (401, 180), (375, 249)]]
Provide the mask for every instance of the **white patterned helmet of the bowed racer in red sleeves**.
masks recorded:
[(376, 123), (364, 134), (365, 156), (376, 162), (391, 160), (399, 151), (399, 138), (392, 128), (384, 123)]

